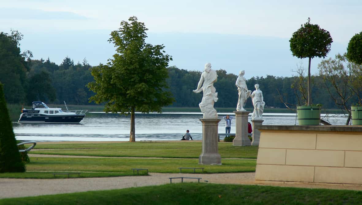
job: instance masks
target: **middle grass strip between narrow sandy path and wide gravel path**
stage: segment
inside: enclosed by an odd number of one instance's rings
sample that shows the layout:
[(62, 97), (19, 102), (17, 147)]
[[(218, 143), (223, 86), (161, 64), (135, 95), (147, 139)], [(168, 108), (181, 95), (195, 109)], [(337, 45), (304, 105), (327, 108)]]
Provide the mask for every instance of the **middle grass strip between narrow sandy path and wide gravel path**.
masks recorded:
[[(254, 172), (256, 160), (223, 159), (222, 165), (198, 164), (198, 159), (129, 159), (129, 158), (30, 158), (27, 171), (125, 172), (131, 168), (148, 168), (149, 172), (178, 173), (178, 167), (205, 167), (203, 173)], [(193, 172), (193, 170), (191, 170)], [(185, 173), (190, 172), (185, 170)]]

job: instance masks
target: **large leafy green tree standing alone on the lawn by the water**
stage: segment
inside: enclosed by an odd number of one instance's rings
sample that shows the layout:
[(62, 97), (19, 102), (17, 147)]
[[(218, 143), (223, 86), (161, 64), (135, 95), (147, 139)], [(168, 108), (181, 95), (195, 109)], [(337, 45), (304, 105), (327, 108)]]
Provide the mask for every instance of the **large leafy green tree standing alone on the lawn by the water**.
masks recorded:
[(121, 22), (108, 40), (117, 53), (104, 65), (92, 68), (93, 82), (87, 87), (96, 93), (90, 102), (106, 102), (105, 112), (131, 114), (130, 142), (135, 142), (135, 110), (161, 112), (174, 100), (167, 89), (168, 62), (163, 45), (145, 43), (148, 30), (137, 17)]

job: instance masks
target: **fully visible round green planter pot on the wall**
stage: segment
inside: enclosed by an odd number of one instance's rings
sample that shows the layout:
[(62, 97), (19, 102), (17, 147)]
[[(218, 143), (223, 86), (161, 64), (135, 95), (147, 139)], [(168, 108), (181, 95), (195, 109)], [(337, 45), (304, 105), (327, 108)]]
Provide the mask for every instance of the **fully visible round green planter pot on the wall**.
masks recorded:
[(304, 105), (297, 107), (299, 125), (319, 125), (320, 108), (316, 105)]

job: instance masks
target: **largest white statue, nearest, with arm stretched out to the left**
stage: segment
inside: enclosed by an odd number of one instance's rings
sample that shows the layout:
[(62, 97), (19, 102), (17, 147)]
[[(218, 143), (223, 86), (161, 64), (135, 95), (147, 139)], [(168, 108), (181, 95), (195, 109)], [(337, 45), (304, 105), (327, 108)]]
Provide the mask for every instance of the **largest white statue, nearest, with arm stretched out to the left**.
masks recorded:
[[(194, 93), (203, 92), (199, 107), (203, 113), (203, 118), (218, 118), (218, 113), (214, 109), (214, 103), (218, 101), (218, 93), (215, 92), (214, 82), (218, 79), (216, 71), (211, 70), (211, 63), (205, 64), (205, 70), (201, 74), (201, 78)], [(202, 87), (201, 87), (202, 85)]]

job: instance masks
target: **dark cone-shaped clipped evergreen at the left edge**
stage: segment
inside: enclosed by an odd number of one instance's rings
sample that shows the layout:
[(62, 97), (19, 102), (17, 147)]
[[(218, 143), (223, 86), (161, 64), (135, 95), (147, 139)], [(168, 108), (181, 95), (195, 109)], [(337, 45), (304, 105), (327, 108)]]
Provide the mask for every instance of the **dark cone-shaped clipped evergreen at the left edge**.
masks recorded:
[(25, 172), (0, 83), (0, 173)]

